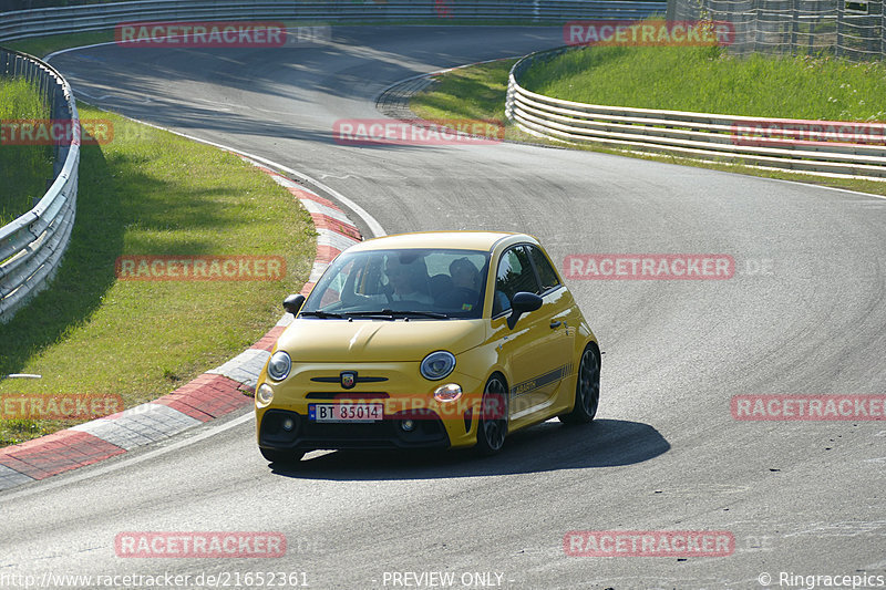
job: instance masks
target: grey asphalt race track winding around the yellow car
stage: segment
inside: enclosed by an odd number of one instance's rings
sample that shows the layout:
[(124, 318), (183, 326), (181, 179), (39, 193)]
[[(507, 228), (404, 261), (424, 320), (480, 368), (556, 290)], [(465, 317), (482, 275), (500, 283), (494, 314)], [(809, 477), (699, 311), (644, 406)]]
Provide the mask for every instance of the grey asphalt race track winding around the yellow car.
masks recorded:
[[(761, 573), (771, 588), (806, 588), (782, 572), (886, 576), (886, 422), (730, 412), (743, 394), (886, 394), (886, 200), (515, 144), (337, 145), (333, 122), (381, 117), (374, 100), (390, 84), (555, 46), (562, 30), (333, 34), (271, 50), (105, 45), (52, 63), (80, 97), (310, 175), (389, 234), (526, 231), (555, 262), (729, 253), (735, 276), (569, 281), (606, 353), (588, 427), (552, 421), (485, 459), (318, 452), (279, 470), (258, 454), (250, 415), (237, 415), (0, 495), (0, 575), (279, 571), (305, 572), (311, 588), (356, 589), (431, 588), (436, 578), (394, 572), (450, 572), (454, 588), (618, 590), (763, 588)], [(216, 530), (279, 531), (288, 551), (114, 550), (122, 531)], [(730, 531), (734, 551), (569, 557), (573, 530)]]

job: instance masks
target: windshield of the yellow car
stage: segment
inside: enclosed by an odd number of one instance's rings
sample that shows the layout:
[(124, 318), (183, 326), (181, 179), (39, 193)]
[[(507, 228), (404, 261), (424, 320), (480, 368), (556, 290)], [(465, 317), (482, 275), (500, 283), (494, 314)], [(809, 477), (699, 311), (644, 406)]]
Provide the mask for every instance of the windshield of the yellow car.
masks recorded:
[(488, 252), (370, 250), (339, 256), (311, 291), (303, 317), (476, 319)]

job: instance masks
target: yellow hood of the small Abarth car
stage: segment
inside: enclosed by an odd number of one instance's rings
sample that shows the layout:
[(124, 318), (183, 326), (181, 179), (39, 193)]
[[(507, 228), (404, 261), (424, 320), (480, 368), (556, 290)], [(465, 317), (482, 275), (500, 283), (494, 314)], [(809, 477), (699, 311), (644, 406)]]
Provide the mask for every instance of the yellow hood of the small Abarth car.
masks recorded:
[(483, 320), (296, 319), (277, 348), (293, 362), (419, 362), (437, 350), (460, 354), (485, 337)]

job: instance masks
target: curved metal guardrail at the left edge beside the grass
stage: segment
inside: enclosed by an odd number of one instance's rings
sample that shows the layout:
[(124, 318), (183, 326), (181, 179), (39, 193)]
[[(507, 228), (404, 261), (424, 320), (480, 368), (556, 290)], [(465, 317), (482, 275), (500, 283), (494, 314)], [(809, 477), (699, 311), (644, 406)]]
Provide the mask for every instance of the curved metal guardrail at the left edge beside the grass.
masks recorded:
[(71, 121), (73, 130), (71, 143), (54, 148), (54, 182), (43, 198), (33, 209), (0, 228), (0, 321), (8, 321), (53, 277), (71, 239), (76, 210), (80, 118), (71, 86), (58, 71), (37, 58), (0, 49), (0, 77), (21, 77), (34, 83), (51, 106), (50, 118)]

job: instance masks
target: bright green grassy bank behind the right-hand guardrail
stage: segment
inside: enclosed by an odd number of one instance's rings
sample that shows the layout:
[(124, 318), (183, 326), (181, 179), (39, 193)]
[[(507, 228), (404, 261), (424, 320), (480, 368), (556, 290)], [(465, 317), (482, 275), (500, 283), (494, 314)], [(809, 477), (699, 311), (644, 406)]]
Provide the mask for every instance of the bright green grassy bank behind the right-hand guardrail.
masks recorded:
[(728, 56), (721, 48), (587, 48), (521, 84), (568, 101), (760, 117), (886, 121), (886, 64)]

